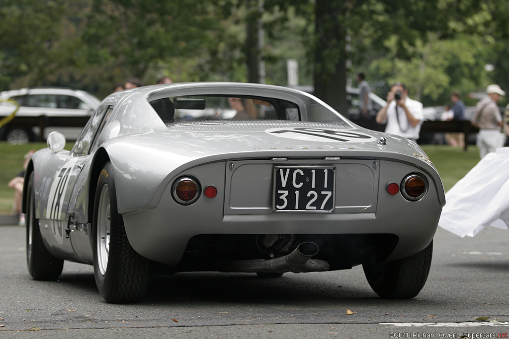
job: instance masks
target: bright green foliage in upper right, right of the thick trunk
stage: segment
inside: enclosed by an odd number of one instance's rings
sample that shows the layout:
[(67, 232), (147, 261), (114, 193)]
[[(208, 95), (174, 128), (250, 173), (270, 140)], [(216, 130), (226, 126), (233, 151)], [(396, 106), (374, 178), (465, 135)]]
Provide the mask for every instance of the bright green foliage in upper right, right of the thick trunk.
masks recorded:
[[(405, 82), (411, 96), (425, 105), (447, 103), (451, 90), (467, 94), (484, 89), (491, 82), (503, 85), (500, 75), (509, 71), (509, 65), (503, 66), (506, 58), (498, 46), (507, 45), (508, 30), (503, 26), (508, 22), (508, 5), (499, 0), (446, 0), (438, 2), (437, 9), (443, 10), (446, 17), (438, 13), (437, 25), (418, 30), (419, 35), (411, 40), (402, 39), (409, 34), (401, 36), (401, 30), (383, 31), (375, 29), (377, 25), (362, 27), (353, 37), (354, 64), (367, 70), (375, 83)], [(494, 13), (506, 19), (494, 20)], [(382, 46), (376, 42), (382, 38), (377, 32), (386, 36), (380, 40)], [(495, 64), (496, 71), (487, 72), (486, 64)], [(385, 95), (385, 91), (380, 94)], [(473, 103), (472, 100), (469, 104)]]

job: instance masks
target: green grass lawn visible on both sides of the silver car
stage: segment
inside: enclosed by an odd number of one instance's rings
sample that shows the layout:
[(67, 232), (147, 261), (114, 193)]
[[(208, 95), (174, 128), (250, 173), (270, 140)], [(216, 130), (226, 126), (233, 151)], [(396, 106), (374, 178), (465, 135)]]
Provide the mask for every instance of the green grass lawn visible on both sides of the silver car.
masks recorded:
[[(0, 214), (11, 214), (14, 200), (14, 190), (7, 186), (16, 174), (23, 168), (23, 156), (30, 149), (41, 149), (45, 143), (30, 143), (24, 145), (10, 145), (0, 142)], [(70, 149), (72, 143), (67, 143)], [(449, 190), (479, 161), (479, 150), (475, 146), (468, 147), (468, 151), (443, 145), (425, 145), (422, 147), (438, 170), (444, 183), (445, 191)]]

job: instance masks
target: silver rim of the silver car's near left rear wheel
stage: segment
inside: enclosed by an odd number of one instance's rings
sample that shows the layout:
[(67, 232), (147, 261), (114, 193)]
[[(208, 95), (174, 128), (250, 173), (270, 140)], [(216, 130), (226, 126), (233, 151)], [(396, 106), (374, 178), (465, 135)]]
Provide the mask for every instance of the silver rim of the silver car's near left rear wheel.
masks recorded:
[(110, 203), (109, 188), (104, 185), (99, 197), (99, 208), (97, 211), (97, 261), (99, 271), (102, 275), (106, 273), (109, 256), (109, 236), (110, 236)]

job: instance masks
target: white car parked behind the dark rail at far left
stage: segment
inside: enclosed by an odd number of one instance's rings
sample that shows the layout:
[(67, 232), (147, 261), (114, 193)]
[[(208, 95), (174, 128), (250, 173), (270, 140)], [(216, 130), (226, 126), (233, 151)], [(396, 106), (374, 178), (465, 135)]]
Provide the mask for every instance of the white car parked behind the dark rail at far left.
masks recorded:
[[(75, 140), (82, 127), (65, 118), (90, 117), (99, 106), (100, 100), (92, 94), (78, 89), (63, 87), (30, 87), (0, 92), (0, 119), (11, 115), (19, 105), (14, 119), (0, 129), (0, 140), (10, 143), (25, 143), (45, 139), (52, 131), (62, 132), (68, 139)], [(7, 103), (14, 100), (15, 103)], [(62, 118), (62, 119), (60, 119)], [(58, 121), (58, 126), (51, 126)], [(86, 122), (86, 121), (85, 121)], [(44, 127), (42, 138), (41, 125)], [(47, 128), (45, 128), (47, 127)], [(39, 138), (38, 138), (39, 137)]]

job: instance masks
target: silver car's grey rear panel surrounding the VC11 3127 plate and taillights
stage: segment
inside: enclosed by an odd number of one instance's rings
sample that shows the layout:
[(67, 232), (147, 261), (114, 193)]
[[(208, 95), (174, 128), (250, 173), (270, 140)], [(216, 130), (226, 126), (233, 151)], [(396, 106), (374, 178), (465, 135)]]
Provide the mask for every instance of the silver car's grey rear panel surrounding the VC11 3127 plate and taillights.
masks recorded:
[[(179, 205), (171, 195), (172, 179), (155, 208), (123, 215), (127, 236), (140, 255), (170, 266), (179, 264), (191, 238), (203, 234), (352, 235), (352, 238), (362, 234), (394, 235), (397, 244), (387, 245), (393, 250), (386, 261), (420, 252), (431, 242), (438, 225), (442, 204), (437, 188), (442, 187), (441, 183), (435, 183), (433, 176), (422, 168), (380, 160), (373, 166), (374, 162), (350, 161), (354, 166), (349, 168), (353, 170), (349, 170), (339, 186), (336, 184), (334, 213), (274, 213), (270, 169), (275, 164), (260, 163), (249, 168), (234, 163), (233, 168), (245, 170), (238, 172), (239, 176), (234, 171), (229, 173), (230, 162), (195, 167), (174, 179), (191, 175), (201, 182), (202, 188), (218, 188), (217, 196), (213, 199), (202, 196), (192, 205)], [(337, 164), (336, 171), (340, 178), (341, 166)], [(265, 167), (268, 170), (260, 170)], [(429, 182), (424, 198), (408, 201), (401, 194), (387, 193), (388, 183), (399, 183), (412, 172), (421, 173)], [(369, 184), (366, 186), (365, 182)], [(251, 195), (243, 198), (242, 194)], [(384, 241), (383, 236), (380, 241)]]

